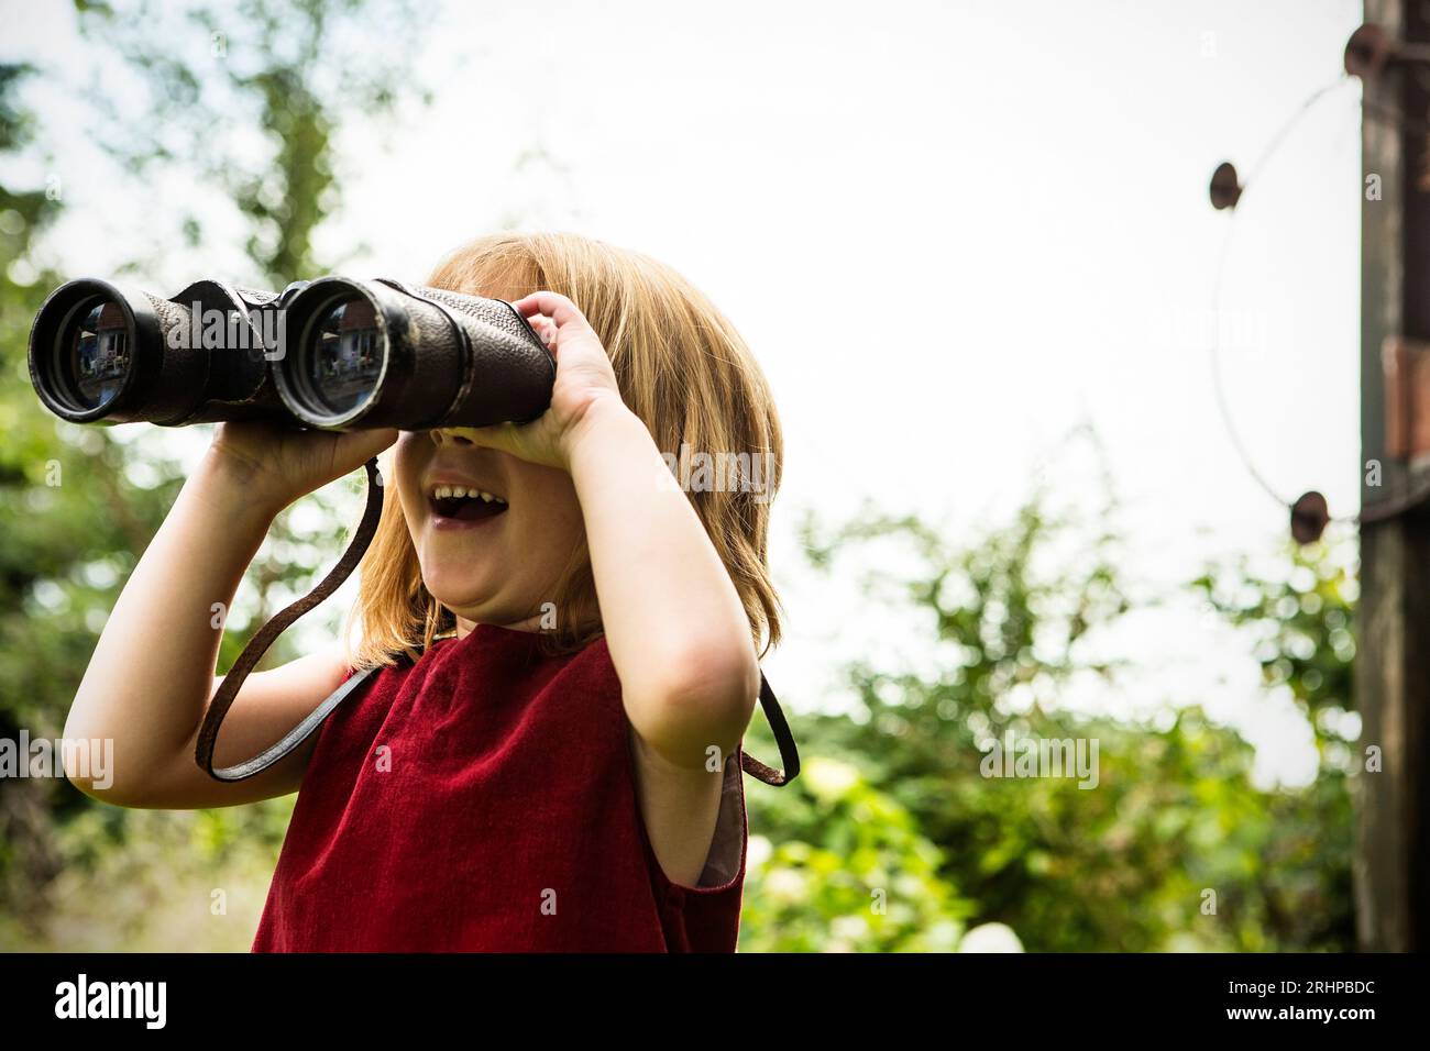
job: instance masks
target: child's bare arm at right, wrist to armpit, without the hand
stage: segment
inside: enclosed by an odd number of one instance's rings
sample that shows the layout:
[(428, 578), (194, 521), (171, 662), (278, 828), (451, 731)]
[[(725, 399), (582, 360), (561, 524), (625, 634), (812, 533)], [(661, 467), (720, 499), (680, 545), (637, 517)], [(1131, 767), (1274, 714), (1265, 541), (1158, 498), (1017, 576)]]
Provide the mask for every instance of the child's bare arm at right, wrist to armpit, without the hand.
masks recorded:
[(583, 413), (571, 475), (646, 835), (665, 875), (695, 887), (714, 849), (725, 759), (759, 694), (749, 621), (689, 498), (619, 398)]

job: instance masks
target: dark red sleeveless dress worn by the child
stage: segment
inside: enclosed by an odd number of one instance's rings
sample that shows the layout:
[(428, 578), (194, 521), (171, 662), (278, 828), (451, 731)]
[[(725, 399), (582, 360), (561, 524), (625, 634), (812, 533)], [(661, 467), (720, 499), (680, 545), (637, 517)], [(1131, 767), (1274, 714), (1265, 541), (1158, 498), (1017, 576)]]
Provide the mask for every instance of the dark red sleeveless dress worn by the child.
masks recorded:
[(478, 625), (376, 672), (319, 731), (255, 952), (734, 952), (741, 752), (705, 871), (666, 878), (605, 639)]

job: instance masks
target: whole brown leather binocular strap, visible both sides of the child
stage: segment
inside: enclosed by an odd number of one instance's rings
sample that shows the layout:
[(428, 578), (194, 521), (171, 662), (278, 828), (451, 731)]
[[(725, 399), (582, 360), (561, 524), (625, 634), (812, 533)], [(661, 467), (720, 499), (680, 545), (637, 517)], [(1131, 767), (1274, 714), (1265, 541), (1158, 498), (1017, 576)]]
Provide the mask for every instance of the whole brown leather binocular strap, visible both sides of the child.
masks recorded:
[[(252, 759), (245, 759), (233, 766), (214, 768), (213, 749), (219, 742), (219, 728), (223, 725), (223, 716), (233, 706), (233, 699), (239, 695), (243, 679), (249, 676), (249, 672), (253, 671), (253, 666), (279, 635), (297, 618), (320, 605), (342, 586), (343, 581), (358, 568), (358, 562), (368, 551), (373, 533), (378, 532), (378, 519), (382, 516), (382, 475), (378, 473), (378, 458), (375, 456), (363, 466), (368, 469), (368, 506), (363, 509), (362, 522), (358, 523), (358, 532), (353, 533), (347, 551), (343, 552), (343, 556), (337, 559), (337, 565), (332, 568), (313, 591), (276, 613), (273, 619), (259, 629), (259, 633), (239, 653), (239, 659), (233, 662), (229, 673), (223, 676), (223, 682), (219, 684), (213, 701), (209, 702), (209, 708), (203, 714), (203, 725), (199, 728), (199, 744), (194, 746), (193, 758), (199, 764), (199, 768), (214, 781), (245, 781), (267, 769), (303, 744), (337, 705), (346, 701), (360, 685), (369, 682), (375, 672), (380, 671), (380, 668), (373, 666), (353, 672), (343, 685), (329, 694), (317, 708), (309, 712), (307, 718), (285, 734), (277, 744), (266, 748)], [(785, 714), (779, 709), (779, 701), (775, 699), (775, 692), (769, 688), (769, 682), (765, 681), (764, 672), (759, 673), (759, 706), (764, 709), (769, 729), (779, 745), (779, 762), (784, 764), (784, 769), (779, 771), (766, 766), (749, 754), (742, 754), (741, 765), (751, 776), (764, 781), (766, 785), (781, 788), (799, 775), (799, 751), (795, 748), (789, 724), (785, 721)]]

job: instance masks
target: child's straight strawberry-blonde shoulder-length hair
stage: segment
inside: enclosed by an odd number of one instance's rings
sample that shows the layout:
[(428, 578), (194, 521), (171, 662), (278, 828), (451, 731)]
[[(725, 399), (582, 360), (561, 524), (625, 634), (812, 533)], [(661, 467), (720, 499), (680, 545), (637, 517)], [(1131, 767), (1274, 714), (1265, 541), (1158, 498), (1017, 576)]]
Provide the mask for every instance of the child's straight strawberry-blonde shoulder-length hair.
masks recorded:
[[(626, 406), (651, 430), (666, 462), (686, 453), (765, 465), (756, 486), (686, 486), (705, 532), (749, 618), (759, 655), (779, 642), (779, 599), (769, 578), (769, 500), (779, 486), (784, 439), (764, 373), (735, 327), (694, 285), (649, 256), (572, 233), (496, 233), (448, 256), (432, 287), (513, 302), (545, 289), (571, 299), (601, 337)], [(684, 466), (682, 466), (684, 469)], [(390, 453), (383, 465), (392, 476)], [(691, 490), (695, 489), (695, 490)], [(372, 546), (359, 563), (347, 638), (352, 666), (416, 659), (456, 618), (422, 582), (402, 503), (389, 492)], [(555, 593), (558, 628), (542, 632), (551, 652), (599, 638), (595, 579), (585, 541)], [(535, 612), (535, 611), (532, 611)], [(764, 636), (764, 645), (761, 638)]]

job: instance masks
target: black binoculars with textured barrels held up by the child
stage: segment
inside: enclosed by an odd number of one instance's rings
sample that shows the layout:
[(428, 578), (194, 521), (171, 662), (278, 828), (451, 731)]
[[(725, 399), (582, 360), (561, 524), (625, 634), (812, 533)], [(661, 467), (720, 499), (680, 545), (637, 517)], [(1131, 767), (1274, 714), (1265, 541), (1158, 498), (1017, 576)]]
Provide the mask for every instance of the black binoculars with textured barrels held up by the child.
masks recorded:
[(30, 382), (74, 423), (522, 423), (546, 410), (555, 376), (506, 300), (389, 279), (319, 277), (283, 292), (200, 280), (173, 299), (73, 280), (30, 330)]

